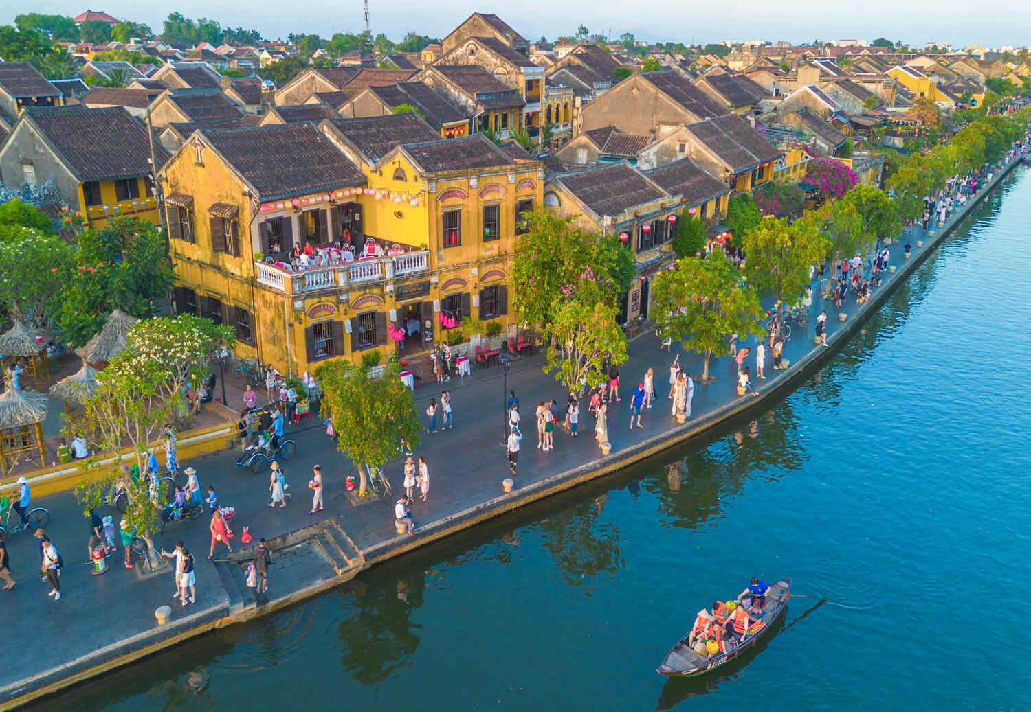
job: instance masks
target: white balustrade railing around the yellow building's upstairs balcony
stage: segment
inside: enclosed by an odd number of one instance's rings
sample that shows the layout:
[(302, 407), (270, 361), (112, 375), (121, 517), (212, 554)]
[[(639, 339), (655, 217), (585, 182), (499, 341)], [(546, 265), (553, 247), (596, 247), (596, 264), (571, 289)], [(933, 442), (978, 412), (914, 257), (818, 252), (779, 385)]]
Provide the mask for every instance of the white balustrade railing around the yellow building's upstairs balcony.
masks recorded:
[(425, 249), (296, 271), (282, 263), (255, 263), (258, 283), (287, 295), (308, 295), (357, 284), (374, 284), (425, 272), (429, 268), (430, 253)]

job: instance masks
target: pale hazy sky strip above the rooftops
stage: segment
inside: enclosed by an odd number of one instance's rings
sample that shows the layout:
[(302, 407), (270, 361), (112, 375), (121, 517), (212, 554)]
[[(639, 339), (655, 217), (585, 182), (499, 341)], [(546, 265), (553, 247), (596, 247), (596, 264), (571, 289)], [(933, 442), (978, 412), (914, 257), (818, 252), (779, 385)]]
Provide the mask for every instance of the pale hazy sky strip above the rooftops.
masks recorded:
[[(91, 0), (93, 9), (103, 9), (117, 18), (149, 25), (156, 32), (171, 10), (191, 18), (206, 16), (223, 25), (258, 29), (266, 37), (284, 37), (291, 32), (317, 33), (324, 37), (334, 32), (362, 29), (362, 3), (329, 0), (308, 0), (301, 5), (251, 5), (220, 0), (185, 0), (166, 5), (130, 3), (117, 4), (106, 0)], [(0, 14), (0, 22), (12, 23), (22, 11), (76, 15), (85, 5), (67, 1), (39, 0), (31, 7), (12, 7)], [(699, 3), (700, 4), (700, 3)], [(788, 3), (774, 7), (770, 2), (745, 0), (735, 7), (701, 6), (689, 8), (680, 3), (660, 0), (633, 0), (627, 3), (602, 3), (590, 0), (546, 2), (524, 0), (511, 7), (505, 3), (480, 5), (484, 12), (497, 12), (505, 22), (530, 40), (541, 35), (554, 39), (559, 34), (572, 34), (583, 23), (591, 32), (607, 32), (619, 36), (632, 32), (641, 39), (680, 42), (709, 42), (721, 39), (787, 39), (806, 42), (813, 39), (877, 37), (901, 39), (923, 45), (928, 41), (960, 44), (1021, 45), (1029, 41), (1031, 3), (1002, 5), (956, 3), (955, 0), (868, 0), (864, 3), (828, 3), (822, 11), (809, 10), (810, 1)], [(821, 3), (822, 4), (822, 3)], [(955, 5), (955, 6), (954, 6)], [(510, 9), (505, 9), (505, 7)], [(1020, 9), (1023, 6), (1024, 9)], [(161, 7), (159, 10), (158, 8)], [(462, 22), (472, 10), (441, 10), (428, 2), (385, 3), (370, 0), (373, 34), (384, 32), (398, 40), (408, 30), (442, 37)]]

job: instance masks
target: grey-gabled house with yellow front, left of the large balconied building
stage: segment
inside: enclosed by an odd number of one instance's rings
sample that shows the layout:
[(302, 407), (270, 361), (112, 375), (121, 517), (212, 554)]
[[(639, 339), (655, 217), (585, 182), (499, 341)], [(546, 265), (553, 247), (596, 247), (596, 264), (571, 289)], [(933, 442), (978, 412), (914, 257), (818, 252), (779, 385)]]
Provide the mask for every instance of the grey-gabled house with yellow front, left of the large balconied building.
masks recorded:
[[(168, 158), (159, 144), (154, 155)], [(98, 230), (121, 216), (160, 224), (152, 170), (146, 128), (121, 107), (30, 107), (0, 146), (4, 184), (53, 184)]]

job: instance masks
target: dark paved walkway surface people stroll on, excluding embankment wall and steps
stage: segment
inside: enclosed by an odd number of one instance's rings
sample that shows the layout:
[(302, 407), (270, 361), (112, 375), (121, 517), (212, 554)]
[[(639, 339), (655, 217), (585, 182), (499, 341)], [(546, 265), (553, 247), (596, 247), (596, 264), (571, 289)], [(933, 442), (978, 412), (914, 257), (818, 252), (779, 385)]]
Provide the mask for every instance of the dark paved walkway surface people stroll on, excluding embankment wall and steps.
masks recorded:
[[(956, 219), (951, 218), (944, 230)], [(931, 238), (919, 228), (911, 235), (904, 236), (901, 242), (904, 243), (906, 239), (912, 242), (912, 261), (932, 248)], [(918, 240), (925, 241), (922, 249), (917, 248)], [(896, 243), (890, 249), (890, 264), (896, 267), (902, 265), (905, 261), (901, 245)], [(887, 276), (889, 278), (875, 291), (875, 301), (878, 294), (890, 291), (903, 278), (901, 271)], [(833, 308), (833, 304), (828, 302), (827, 307), (830, 315), (828, 339), (834, 345), (843, 336), (845, 328), (860, 318), (859, 312), (865, 314), (869, 309), (875, 308), (875, 305), (857, 309), (854, 298), (850, 296), (849, 303), (840, 310), (849, 316), (849, 321), (844, 324), (837, 320), (838, 310)], [(816, 296), (808, 328), (796, 331), (787, 343), (785, 357), (793, 365), (802, 364), (816, 351), (823, 349), (814, 346), (812, 340), (816, 316), (822, 308), (824, 302)], [(692, 422), (700, 423), (720, 411), (753, 398), (746, 396), (741, 399), (734, 392), (736, 366), (733, 361), (729, 358), (716, 359), (710, 364), (710, 373), (717, 376), (717, 380), (708, 385), (696, 382), (693, 417), (687, 426), (678, 427), (670, 414), (670, 402), (666, 399), (666, 394), (669, 363), (679, 351), (675, 344), (671, 354), (660, 352), (658, 346), (658, 341), (650, 333), (629, 344), (629, 362), (621, 370), (623, 401), (618, 405), (613, 402), (609, 409), (608, 429), (613, 455), (618, 456), (621, 451), (625, 453), (648, 439), (668, 437), (677, 428), (686, 430)], [(679, 361), (692, 373), (701, 372), (700, 358), (696, 354), (681, 352)], [(755, 374), (755, 350), (745, 363)], [(528, 420), (532, 420), (533, 411), (542, 400), (555, 398), (564, 406), (565, 394), (554, 377), (541, 370), (542, 365), (543, 359), (539, 354), (518, 359), (508, 375), (508, 387), (519, 396), (523, 416)], [(644, 411), (641, 418), (643, 429), (629, 431), (629, 395), (643, 380), (644, 371), (648, 367), (655, 369), (658, 399), (653, 409)], [(795, 367), (789, 371), (773, 371), (767, 362), (766, 373), (766, 380), (754, 379), (759, 393), (763, 395), (784, 384), (797, 375), (798, 371)], [(475, 370), (470, 377), (464, 379), (453, 378), (447, 383), (431, 382), (421, 385), (415, 391), (415, 407), (423, 420), (426, 419), (423, 413), (427, 402), (430, 397), (439, 397), (438, 386), (441, 385), (452, 391), (455, 428), (433, 435), (424, 434), (422, 443), (415, 448), (417, 455), (426, 457), (431, 482), (429, 501), (417, 502), (412, 507), (420, 529), (499, 497), (502, 494), (501, 480), (507, 476), (505, 450), (501, 444), (503, 402), (506, 395), (501, 369), (494, 367)], [(577, 438), (570, 438), (557, 430), (555, 449), (550, 452), (535, 446), (534, 428), (524, 430), (526, 438), (520, 457), (518, 488), (581, 468), (601, 455), (593, 437), (593, 418), (589, 413), (581, 414), (580, 435)], [(333, 517), (363, 551), (367, 552), (373, 547), (383, 550), (393, 541), (410, 543), (406, 537), (398, 537), (394, 529), (393, 501), (376, 501), (361, 506), (352, 504), (344, 491), (343, 480), (347, 475), (354, 474), (355, 468), (336, 453), (321, 426), (303, 423), (299, 429), (288, 427), (287, 437), (297, 441), (298, 452), (285, 466), (291, 490), (295, 495), (285, 509), (272, 510), (266, 506), (269, 501), (268, 474), (253, 475), (248, 470), (235, 467), (232, 462), (235, 454), (233, 452), (209, 455), (196, 462), (182, 463), (181, 466), (193, 465), (197, 468), (203, 489), (206, 490), (208, 484), (214, 485), (223, 506), (231, 505), (236, 509), (233, 522), (236, 532), (239, 533), (243, 525), (247, 525), (256, 541), (258, 537), (284, 535), (314, 521)], [(395, 493), (401, 489), (402, 462), (403, 460), (398, 460), (386, 467)], [(312, 516), (308, 514), (310, 500), (305, 485), (311, 467), (317, 463), (322, 464), (324, 472), (326, 511)], [(115, 557), (109, 560), (112, 564), (110, 571), (102, 576), (90, 575), (90, 568), (82, 564), (86, 561), (89, 525), (71, 493), (55, 495), (34, 504), (42, 504), (49, 509), (52, 523), (47, 534), (65, 560), (61, 578), (62, 598), (60, 602), (48, 598), (47, 585), (39, 580), (37, 540), (25, 533), (8, 537), (11, 570), (18, 585), (12, 590), (0, 591), (0, 600), (11, 613), (8, 618), (14, 630), (31, 636), (32, 642), (16, 654), (9, 655), (6, 665), (0, 670), (0, 707), (5, 700), (18, 696), (20, 690), (32, 687), (32, 678), (44, 671), (108, 647), (113, 656), (115, 651), (125, 649), (127, 638), (153, 633), (154, 610), (157, 606), (175, 604), (172, 610), (173, 625), (168, 633), (162, 633), (162, 636), (171, 636), (177, 631), (189, 630), (202, 620), (213, 620), (226, 614), (233, 595), (223, 585), (212, 563), (206, 560), (206, 516), (172, 523), (159, 537), (159, 543), (168, 548), (171, 548), (175, 539), (181, 538), (197, 556), (198, 601), (184, 608), (172, 600), (174, 587), (170, 570), (149, 577), (141, 576), (135, 570), (128, 571), (122, 567), (121, 550)], [(415, 541), (418, 539), (417, 531)], [(270, 572), (270, 596), (310, 584), (303, 580), (285, 580), (285, 572), (278, 573), (279, 577), (275, 567)], [(332, 574), (330, 571), (327, 576)], [(11, 647), (12, 653), (15, 648), (16, 646)]]

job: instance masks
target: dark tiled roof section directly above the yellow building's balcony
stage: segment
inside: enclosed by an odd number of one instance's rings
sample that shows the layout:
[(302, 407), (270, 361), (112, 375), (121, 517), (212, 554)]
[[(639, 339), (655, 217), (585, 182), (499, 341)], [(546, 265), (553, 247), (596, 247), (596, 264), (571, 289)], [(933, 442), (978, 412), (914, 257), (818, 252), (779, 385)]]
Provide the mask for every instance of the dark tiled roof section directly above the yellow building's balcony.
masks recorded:
[(365, 182), (361, 171), (311, 124), (202, 129), (201, 136), (260, 200)]

